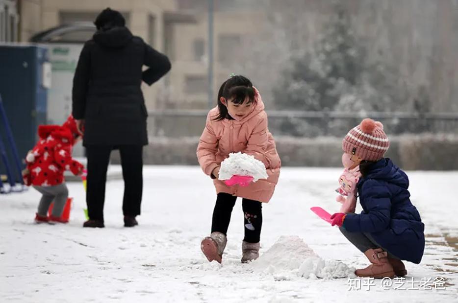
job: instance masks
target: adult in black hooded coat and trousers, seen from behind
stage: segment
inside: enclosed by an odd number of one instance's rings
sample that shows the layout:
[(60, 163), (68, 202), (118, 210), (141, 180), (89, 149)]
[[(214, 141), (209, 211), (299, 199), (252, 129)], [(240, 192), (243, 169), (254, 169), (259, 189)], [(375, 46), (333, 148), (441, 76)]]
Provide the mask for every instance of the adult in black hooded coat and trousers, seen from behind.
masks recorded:
[[(87, 154), (84, 227), (103, 227), (106, 170), (119, 149), (125, 182), (124, 225), (137, 225), (143, 188), (143, 145), (148, 144), (142, 81), (152, 85), (171, 68), (169, 59), (133, 36), (123, 16), (109, 8), (95, 21), (97, 32), (84, 44), (73, 80), (73, 117)], [(142, 71), (146, 65), (149, 69)]]

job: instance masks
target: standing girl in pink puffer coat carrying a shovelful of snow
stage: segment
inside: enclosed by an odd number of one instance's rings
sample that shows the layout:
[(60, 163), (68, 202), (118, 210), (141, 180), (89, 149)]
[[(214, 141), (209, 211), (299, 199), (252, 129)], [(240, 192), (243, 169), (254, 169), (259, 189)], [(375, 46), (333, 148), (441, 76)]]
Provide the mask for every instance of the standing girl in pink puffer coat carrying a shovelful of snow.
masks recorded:
[[(268, 178), (242, 187), (227, 186), (218, 180), (221, 162), (229, 153), (242, 152), (264, 163)], [(209, 261), (222, 261), (227, 243), (230, 215), (237, 197), (243, 198), (245, 237), (242, 262), (259, 256), (262, 226), (262, 203), (269, 202), (280, 175), (280, 157), (267, 128), (267, 114), (261, 95), (249, 79), (235, 75), (226, 80), (218, 92), (218, 106), (207, 116), (197, 147), (197, 157), (204, 173), (213, 179), (217, 198), (211, 234), (201, 249)]]

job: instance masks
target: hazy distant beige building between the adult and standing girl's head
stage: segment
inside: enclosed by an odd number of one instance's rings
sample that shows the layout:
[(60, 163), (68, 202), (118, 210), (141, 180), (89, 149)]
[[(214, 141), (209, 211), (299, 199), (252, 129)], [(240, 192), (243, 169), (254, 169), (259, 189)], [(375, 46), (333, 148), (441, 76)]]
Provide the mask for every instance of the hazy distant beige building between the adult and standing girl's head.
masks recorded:
[[(192, 4), (197, 4), (192, 6)], [(233, 2), (233, 1), (227, 1)], [(249, 1), (246, 1), (249, 2)], [(176, 24), (168, 33), (167, 54), (173, 62), (170, 86), (163, 108), (208, 108), (208, 1), (179, 1), (179, 8), (196, 16), (196, 23)], [(234, 6), (233, 10), (215, 1), (213, 13), (213, 106), (222, 82), (231, 73), (250, 77), (247, 49), (263, 30), (264, 10), (248, 6)], [(226, 3), (226, 4), (228, 4)], [(188, 4), (188, 5), (186, 5)], [(199, 5), (200, 4), (200, 5)]]

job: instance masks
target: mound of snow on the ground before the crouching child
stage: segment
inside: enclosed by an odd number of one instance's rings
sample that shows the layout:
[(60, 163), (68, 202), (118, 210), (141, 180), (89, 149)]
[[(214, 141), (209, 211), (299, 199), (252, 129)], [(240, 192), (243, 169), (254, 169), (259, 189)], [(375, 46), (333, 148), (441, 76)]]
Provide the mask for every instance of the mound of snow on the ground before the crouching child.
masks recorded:
[(355, 277), (355, 268), (323, 260), (298, 236), (281, 236), (252, 266), (254, 272), (271, 274), (276, 280)]

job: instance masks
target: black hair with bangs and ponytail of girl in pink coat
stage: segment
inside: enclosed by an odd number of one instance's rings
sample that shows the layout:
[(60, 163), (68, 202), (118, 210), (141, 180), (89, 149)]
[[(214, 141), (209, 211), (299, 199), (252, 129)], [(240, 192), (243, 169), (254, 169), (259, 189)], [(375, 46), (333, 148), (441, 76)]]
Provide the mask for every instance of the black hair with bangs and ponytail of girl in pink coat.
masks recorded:
[(221, 97), (226, 99), (226, 102), (234, 104), (243, 104), (248, 97), (247, 104), (254, 102), (254, 88), (250, 79), (242, 75), (233, 75), (228, 80), (224, 81), (218, 91), (218, 109), (219, 114), (213, 120), (233, 119), (228, 113), (228, 108), (221, 102)]

